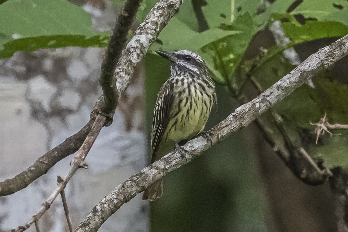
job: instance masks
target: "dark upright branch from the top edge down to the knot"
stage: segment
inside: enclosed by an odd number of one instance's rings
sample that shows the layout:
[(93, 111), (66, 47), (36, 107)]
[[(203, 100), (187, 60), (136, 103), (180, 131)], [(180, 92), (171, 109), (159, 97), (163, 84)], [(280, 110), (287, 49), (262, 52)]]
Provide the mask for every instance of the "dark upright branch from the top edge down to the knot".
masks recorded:
[(115, 66), (121, 57), (122, 49), (125, 47), (128, 31), (132, 26), (135, 15), (142, 0), (128, 0), (117, 16), (116, 23), (112, 29), (112, 35), (102, 62), (99, 82), (103, 89), (104, 104), (100, 113), (109, 115), (114, 112), (118, 105), (118, 90), (114, 78)]

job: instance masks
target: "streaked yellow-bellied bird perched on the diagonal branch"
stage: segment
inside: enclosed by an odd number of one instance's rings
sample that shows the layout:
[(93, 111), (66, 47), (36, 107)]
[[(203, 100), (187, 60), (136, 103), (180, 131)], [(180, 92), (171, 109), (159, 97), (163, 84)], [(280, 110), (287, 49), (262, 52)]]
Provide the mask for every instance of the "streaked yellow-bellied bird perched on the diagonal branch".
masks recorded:
[[(201, 56), (192, 51), (156, 51), (171, 62), (171, 75), (157, 94), (151, 133), (151, 163), (173, 150), (185, 157), (181, 146), (202, 135), (212, 107), (217, 104), (215, 84)], [(163, 178), (149, 185), (143, 200), (163, 194)]]

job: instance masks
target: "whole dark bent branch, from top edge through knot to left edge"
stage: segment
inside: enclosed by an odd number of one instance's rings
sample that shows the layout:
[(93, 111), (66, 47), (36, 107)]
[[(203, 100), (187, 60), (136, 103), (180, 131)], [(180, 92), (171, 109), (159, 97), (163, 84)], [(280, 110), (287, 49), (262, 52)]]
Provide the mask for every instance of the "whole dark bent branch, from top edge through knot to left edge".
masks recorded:
[[(97, 114), (105, 115), (108, 117), (106, 126), (111, 125), (113, 112), (118, 104), (119, 97), (118, 91), (115, 88), (115, 78), (113, 72), (115, 70), (116, 63), (121, 56), (121, 51), (125, 46), (128, 30), (134, 21), (134, 16), (140, 2), (141, 0), (128, 0), (125, 3), (124, 9), (121, 10), (113, 27), (108, 48), (105, 50), (105, 56), (103, 58), (101, 67), (100, 81), (102, 83), (103, 91), (107, 94), (108, 99), (106, 103), (104, 103), (104, 99), (99, 99), (97, 101), (97, 106), (94, 109), (94, 111), (97, 113), (93, 115), (93, 119), (96, 118)], [(132, 74), (132, 72), (130, 72), (130, 74)], [(123, 85), (122, 88), (127, 88), (127, 85)], [(121, 92), (123, 92), (124, 89), (121, 89)], [(75, 153), (85, 141), (93, 122), (94, 120), (90, 120), (78, 133), (65, 139), (63, 143), (44, 154), (37, 161), (35, 161), (32, 166), (24, 170), (22, 173), (16, 175), (14, 178), (0, 182), (0, 196), (13, 194), (24, 189), (35, 179), (46, 174), (47, 171), (58, 161)]]

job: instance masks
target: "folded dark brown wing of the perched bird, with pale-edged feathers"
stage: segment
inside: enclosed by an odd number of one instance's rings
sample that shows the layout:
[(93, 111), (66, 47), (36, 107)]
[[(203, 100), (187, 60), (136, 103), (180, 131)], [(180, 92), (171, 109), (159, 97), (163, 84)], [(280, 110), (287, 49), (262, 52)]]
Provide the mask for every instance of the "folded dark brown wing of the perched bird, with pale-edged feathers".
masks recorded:
[(166, 130), (173, 105), (173, 91), (174, 84), (171, 80), (167, 80), (161, 87), (157, 95), (157, 101), (155, 110), (153, 112), (152, 122), (152, 133), (151, 133), (151, 147), (152, 147), (152, 158), (151, 162), (156, 161), (156, 151), (160, 144), (163, 133)]

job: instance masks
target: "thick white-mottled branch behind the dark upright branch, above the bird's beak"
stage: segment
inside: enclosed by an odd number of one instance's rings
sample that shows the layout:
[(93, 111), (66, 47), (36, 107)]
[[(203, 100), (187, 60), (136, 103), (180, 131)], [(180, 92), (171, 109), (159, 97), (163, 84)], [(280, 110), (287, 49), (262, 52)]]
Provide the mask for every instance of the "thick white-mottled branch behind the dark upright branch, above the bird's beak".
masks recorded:
[[(114, 72), (119, 95), (127, 89), (137, 64), (145, 56), (152, 43), (155, 42), (158, 34), (168, 24), (169, 19), (174, 16), (181, 3), (182, 0), (160, 0), (150, 10), (144, 22), (136, 29), (133, 38), (128, 42), (126, 49), (123, 51)], [(103, 104), (104, 96), (102, 95), (91, 113), (92, 119), (101, 112)], [(105, 126), (111, 125), (111, 122), (112, 116), (109, 115)]]

